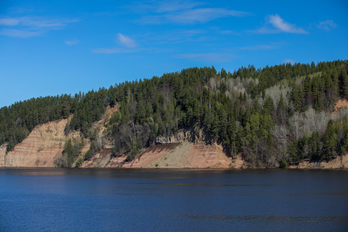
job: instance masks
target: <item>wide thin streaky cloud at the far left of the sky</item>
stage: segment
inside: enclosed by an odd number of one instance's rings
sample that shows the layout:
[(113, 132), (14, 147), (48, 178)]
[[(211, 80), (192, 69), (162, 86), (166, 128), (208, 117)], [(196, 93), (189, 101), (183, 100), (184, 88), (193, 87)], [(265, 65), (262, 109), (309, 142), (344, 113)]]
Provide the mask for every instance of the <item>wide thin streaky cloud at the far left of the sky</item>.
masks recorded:
[(63, 29), (73, 22), (78, 22), (78, 19), (47, 19), (43, 17), (0, 18), (0, 25), (11, 27), (11, 29), (3, 29), (0, 31), (0, 34), (10, 37), (29, 38), (43, 35), (50, 30)]

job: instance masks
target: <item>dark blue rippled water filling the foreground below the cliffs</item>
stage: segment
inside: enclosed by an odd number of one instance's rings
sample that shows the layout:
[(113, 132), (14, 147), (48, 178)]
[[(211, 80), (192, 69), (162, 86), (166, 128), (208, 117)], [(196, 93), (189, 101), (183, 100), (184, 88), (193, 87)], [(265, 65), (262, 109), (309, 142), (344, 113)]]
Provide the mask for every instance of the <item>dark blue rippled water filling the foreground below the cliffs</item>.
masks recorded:
[(0, 231), (348, 231), (348, 170), (0, 168)]

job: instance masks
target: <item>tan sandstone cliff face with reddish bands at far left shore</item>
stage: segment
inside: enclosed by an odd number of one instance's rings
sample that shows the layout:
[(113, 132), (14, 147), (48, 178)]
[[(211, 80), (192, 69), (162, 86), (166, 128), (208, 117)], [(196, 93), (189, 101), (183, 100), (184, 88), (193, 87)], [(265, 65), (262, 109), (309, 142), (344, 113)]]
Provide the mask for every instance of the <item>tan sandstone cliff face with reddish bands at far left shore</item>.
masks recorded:
[[(48, 122), (36, 126), (29, 136), (17, 144), (13, 151), (5, 153), (6, 144), (1, 146), (0, 165), (5, 167), (52, 167), (53, 161), (62, 154), (64, 143), (82, 140), (79, 132), (64, 134), (68, 119)], [(88, 141), (85, 141), (88, 143)], [(85, 146), (88, 146), (85, 145)]]

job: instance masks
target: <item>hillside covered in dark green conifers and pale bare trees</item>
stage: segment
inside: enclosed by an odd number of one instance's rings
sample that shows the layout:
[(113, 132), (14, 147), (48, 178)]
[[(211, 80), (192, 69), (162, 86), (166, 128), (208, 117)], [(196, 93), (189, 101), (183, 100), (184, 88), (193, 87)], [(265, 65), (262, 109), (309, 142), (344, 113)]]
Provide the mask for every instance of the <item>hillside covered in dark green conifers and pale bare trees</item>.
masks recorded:
[[(32, 98), (0, 109), (0, 144), (10, 151), (36, 125), (73, 114), (65, 132), (92, 141), (86, 159), (111, 141), (114, 156), (131, 160), (158, 136), (182, 129), (207, 131), (253, 167), (330, 159), (348, 150), (348, 110), (333, 113), (334, 103), (348, 97), (347, 71), (347, 60), (248, 65), (233, 73), (191, 67), (74, 96)], [(119, 110), (98, 138), (90, 128), (107, 105)]]

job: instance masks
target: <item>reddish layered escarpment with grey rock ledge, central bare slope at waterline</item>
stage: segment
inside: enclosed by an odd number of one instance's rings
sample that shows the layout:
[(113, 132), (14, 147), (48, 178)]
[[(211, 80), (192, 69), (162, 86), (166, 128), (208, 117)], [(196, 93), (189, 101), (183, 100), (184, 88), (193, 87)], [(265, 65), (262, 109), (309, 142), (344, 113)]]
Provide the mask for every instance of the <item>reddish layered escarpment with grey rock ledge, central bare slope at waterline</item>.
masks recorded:
[(230, 154), (223, 144), (217, 144), (204, 130), (185, 129), (170, 137), (156, 138), (151, 145), (133, 160), (127, 154), (112, 157), (112, 150), (105, 148), (86, 160), (81, 167), (122, 168), (229, 168)]

